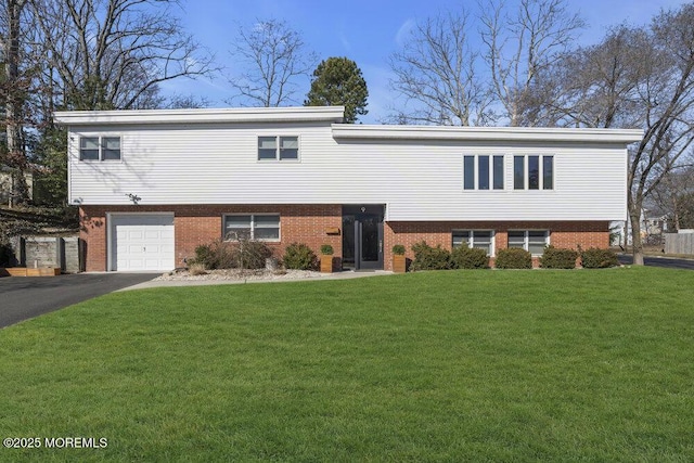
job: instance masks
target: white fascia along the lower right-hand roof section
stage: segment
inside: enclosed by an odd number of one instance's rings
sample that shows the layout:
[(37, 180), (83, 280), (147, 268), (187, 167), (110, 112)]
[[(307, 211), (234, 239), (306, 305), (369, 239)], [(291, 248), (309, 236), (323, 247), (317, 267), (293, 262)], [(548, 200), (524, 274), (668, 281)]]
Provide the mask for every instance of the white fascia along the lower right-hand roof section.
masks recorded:
[(555, 127), (352, 126), (333, 124), (333, 137), (352, 140), (450, 140), (513, 142), (635, 143), (643, 130)]

